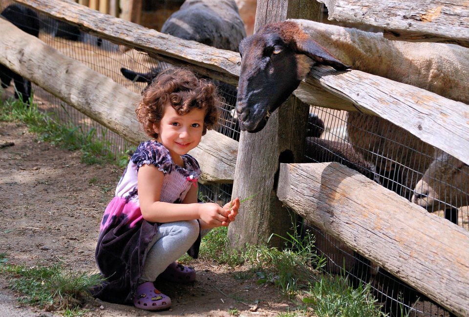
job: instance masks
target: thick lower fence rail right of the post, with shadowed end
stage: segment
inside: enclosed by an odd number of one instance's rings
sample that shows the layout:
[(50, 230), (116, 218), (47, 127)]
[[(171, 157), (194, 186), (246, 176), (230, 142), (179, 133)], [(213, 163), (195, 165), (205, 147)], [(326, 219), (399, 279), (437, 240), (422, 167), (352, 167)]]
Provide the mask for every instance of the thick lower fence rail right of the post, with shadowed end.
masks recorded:
[(449, 311), (468, 316), (466, 230), (336, 162), (280, 164), (277, 196)]

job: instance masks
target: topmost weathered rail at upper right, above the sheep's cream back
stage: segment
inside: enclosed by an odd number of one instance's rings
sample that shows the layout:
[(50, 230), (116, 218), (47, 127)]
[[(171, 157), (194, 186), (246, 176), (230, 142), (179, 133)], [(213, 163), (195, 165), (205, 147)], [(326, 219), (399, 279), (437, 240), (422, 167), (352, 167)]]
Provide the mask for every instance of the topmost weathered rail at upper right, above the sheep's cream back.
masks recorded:
[(329, 20), (384, 28), (390, 40), (452, 43), (469, 47), (466, 0), (319, 0)]

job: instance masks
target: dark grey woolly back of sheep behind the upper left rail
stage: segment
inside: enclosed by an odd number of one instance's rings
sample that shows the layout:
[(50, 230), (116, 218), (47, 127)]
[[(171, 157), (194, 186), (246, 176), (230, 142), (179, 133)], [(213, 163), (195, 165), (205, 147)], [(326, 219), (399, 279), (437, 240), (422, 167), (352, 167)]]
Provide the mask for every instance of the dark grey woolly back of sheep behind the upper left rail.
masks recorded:
[(234, 52), (246, 37), (234, 0), (186, 0), (165, 21), (161, 33)]

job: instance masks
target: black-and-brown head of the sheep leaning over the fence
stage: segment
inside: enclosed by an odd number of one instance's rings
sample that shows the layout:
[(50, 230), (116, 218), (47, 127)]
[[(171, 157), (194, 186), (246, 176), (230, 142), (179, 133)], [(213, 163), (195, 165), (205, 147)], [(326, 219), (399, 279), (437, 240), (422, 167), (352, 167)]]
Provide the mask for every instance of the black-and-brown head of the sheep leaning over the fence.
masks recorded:
[(314, 65), (344, 65), (293, 21), (265, 25), (241, 40), (236, 113), (241, 130), (258, 132)]

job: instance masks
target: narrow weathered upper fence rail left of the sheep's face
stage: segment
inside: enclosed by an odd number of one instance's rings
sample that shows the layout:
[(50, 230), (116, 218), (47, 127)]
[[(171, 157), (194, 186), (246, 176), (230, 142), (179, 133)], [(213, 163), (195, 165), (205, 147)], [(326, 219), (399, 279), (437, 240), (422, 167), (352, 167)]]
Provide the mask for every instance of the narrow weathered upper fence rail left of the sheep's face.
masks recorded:
[(190, 63), (199, 73), (205, 72), (215, 79), (237, 84), (239, 65), (241, 65), (239, 53), (219, 50), (195, 41), (181, 40), (130, 21), (89, 10), (70, 0), (17, 0), (17, 2), (41, 10), (59, 20), (80, 25), (80, 28), (101, 38), (166, 57), (170, 62), (179, 60)]

